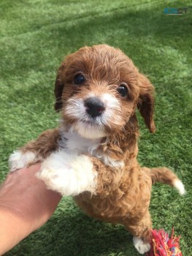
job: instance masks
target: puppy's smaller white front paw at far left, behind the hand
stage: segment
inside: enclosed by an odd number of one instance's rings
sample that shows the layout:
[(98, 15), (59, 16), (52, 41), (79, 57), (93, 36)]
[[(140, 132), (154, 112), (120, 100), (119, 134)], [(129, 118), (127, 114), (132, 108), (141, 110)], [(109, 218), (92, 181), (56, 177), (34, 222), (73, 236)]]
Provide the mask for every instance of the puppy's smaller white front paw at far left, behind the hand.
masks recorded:
[(14, 172), (23, 167), (27, 167), (30, 164), (37, 162), (37, 155), (34, 152), (27, 151), (22, 153), (22, 151), (14, 151), (9, 157), (9, 169), (10, 172)]

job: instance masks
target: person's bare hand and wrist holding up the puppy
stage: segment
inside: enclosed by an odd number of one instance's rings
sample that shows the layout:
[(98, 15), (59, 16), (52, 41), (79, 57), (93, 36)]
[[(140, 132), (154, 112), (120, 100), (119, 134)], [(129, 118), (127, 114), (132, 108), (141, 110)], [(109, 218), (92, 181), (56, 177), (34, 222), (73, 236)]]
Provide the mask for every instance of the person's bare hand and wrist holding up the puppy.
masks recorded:
[(41, 165), (9, 173), (0, 187), (0, 255), (45, 224), (61, 195), (35, 176)]

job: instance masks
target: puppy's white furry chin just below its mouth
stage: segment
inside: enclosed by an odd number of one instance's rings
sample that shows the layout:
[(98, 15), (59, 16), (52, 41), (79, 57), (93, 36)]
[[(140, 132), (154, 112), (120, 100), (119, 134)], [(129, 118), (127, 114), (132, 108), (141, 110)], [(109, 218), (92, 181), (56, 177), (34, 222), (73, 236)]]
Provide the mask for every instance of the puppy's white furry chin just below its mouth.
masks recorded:
[(104, 128), (96, 127), (96, 125), (93, 124), (83, 123), (82, 121), (78, 121), (77, 124), (74, 125), (74, 129), (79, 135), (87, 139), (95, 140), (107, 135)]

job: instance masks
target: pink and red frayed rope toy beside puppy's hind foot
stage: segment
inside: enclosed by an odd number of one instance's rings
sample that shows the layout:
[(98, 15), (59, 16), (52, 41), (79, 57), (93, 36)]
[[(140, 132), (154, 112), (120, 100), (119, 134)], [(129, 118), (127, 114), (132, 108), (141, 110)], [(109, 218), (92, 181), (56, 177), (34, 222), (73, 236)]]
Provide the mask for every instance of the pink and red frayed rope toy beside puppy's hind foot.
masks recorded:
[(152, 230), (150, 252), (146, 256), (182, 256), (179, 241), (180, 237), (174, 236), (174, 228), (171, 238), (164, 229)]

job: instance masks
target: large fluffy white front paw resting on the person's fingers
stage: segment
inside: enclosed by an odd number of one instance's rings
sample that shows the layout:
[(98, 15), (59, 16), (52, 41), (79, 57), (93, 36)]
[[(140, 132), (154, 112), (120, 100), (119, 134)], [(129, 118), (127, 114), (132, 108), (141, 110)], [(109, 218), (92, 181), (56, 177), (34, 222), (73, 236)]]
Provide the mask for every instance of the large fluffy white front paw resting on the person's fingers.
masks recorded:
[(96, 171), (91, 159), (85, 155), (54, 152), (42, 163), (37, 177), (45, 181), (48, 189), (61, 195), (95, 192)]

